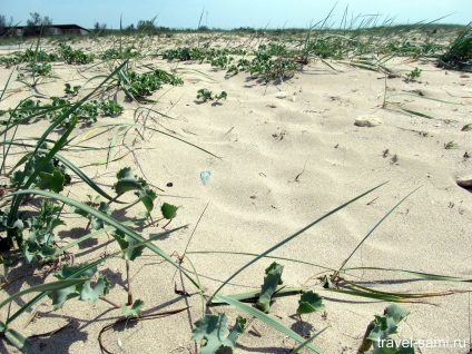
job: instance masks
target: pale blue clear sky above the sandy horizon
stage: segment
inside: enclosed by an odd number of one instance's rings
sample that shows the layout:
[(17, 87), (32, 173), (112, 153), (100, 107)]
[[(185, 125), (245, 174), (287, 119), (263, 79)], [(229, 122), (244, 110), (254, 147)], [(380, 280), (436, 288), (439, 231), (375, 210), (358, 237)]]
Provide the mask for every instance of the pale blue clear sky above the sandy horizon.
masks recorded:
[[(173, 28), (306, 28), (323, 20), (336, 1), (333, 0), (1, 0), (0, 14), (26, 23), (30, 12), (49, 16), (53, 23), (77, 23), (91, 28), (95, 22), (108, 28), (136, 24), (157, 16), (156, 24)], [(332, 22), (340, 24), (348, 6), (348, 17), (380, 14), (380, 22), (394, 18), (395, 23), (441, 20), (443, 23), (466, 24), (472, 21), (472, 0), (338, 0)], [(358, 22), (357, 22), (358, 24)]]

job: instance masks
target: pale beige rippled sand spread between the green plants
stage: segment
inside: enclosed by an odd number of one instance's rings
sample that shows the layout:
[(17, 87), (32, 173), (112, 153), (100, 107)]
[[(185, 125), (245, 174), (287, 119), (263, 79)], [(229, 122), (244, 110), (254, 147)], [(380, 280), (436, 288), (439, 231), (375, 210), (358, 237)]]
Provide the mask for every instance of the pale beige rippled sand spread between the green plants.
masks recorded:
[[(106, 48), (105, 43), (92, 46)], [(175, 259), (186, 252), (191, 264), (183, 259), (183, 266), (190, 272), (195, 267), (207, 295), (250, 257), (191, 252), (260, 254), (327, 212), (385, 181), (386, 185), (278, 248), (273, 256), (338, 268), (375, 224), (415, 190), (367, 238), (348, 266), (402, 268), (470, 278), (472, 195), (455, 183), (460, 176), (472, 173), (471, 160), (464, 157), (472, 153), (471, 132), (461, 131), (465, 124), (472, 122), (469, 75), (437, 68), (434, 62), (392, 59), (389, 67), (400, 75), (415, 67), (422, 69), (419, 81), (405, 82), (401, 77), (384, 80), (380, 72), (341, 62), (332, 62), (337, 70), (334, 71), (323, 62), (313, 61), (292, 79), (265, 86), (248, 79), (244, 72), (226, 78), (225, 70), (215, 70), (208, 63), (169, 63), (158, 59), (145, 63), (165, 70), (176, 69), (185, 81), (183, 87), (166, 86), (156, 91), (150, 98), (158, 100), (157, 104), (142, 105), (170, 118), (153, 112), (147, 119), (145, 115), (138, 117), (140, 124), (170, 137), (142, 129), (138, 134), (131, 129), (119, 137), (120, 145), (114, 149), (114, 157), (124, 156), (121, 159), (108, 167), (85, 167), (83, 171), (112, 193), (116, 171), (130, 166), (136, 175), (159, 188), (158, 204), (167, 201), (179, 206), (178, 216), (167, 228), (188, 227), (156, 244)], [(105, 66), (85, 68), (87, 66), (55, 63), (53, 73), (58, 78), (41, 83), (38, 90), (48, 96), (63, 95), (63, 82), (83, 85), (87, 78), (108, 72)], [(1, 82), (10, 70), (0, 68)], [(196, 100), (200, 88), (214, 92), (224, 90), (228, 97), (219, 102), (201, 102)], [(0, 102), (1, 109), (14, 107), (29, 96), (19, 82), (11, 82), (9, 89), (11, 91)], [(281, 91), (286, 94), (285, 98), (277, 98)], [(394, 105), (384, 109), (385, 96), (389, 102), (401, 102), (406, 109), (436, 119), (409, 115)], [(124, 115), (100, 118), (91, 127), (79, 127), (77, 134), (81, 135), (76, 144), (107, 147), (116, 130), (90, 140), (80, 139), (90, 129), (99, 131), (107, 124), (134, 121), (138, 105), (126, 102), (122, 92), (118, 92), (116, 99), (125, 107)], [(354, 125), (362, 115), (374, 116), (382, 124), (374, 127)], [(19, 135), (39, 136), (46, 127), (43, 121), (23, 125)], [(458, 148), (445, 149), (450, 141)], [(104, 161), (107, 150), (87, 154), (69, 150), (63, 155), (77, 166), (86, 166)], [(11, 157), (8, 166), (11, 167), (13, 160)], [(201, 180), (203, 171), (210, 171), (207, 183)], [(169, 183), (171, 187), (167, 186)], [(63, 194), (69, 191), (69, 197), (83, 201), (87, 194), (92, 194), (82, 184), (67, 188)], [(114, 216), (125, 219), (141, 212), (144, 207), (137, 205), (117, 210)], [(158, 217), (159, 212), (156, 214)], [(63, 218), (68, 226), (59, 232), (60, 245), (86, 234), (86, 219), (70, 213), (65, 213)], [(164, 224), (138, 230), (149, 237), (163, 232)], [(71, 250), (78, 264), (116, 249), (112, 238), (101, 234)], [(258, 289), (264, 269), (272, 262), (257, 262), (233, 279), (223, 294)], [(318, 277), (326, 274), (318, 266), (277, 262), (284, 265), (286, 286), (316, 285)], [(41, 284), (45, 278), (52, 279), (43, 272), (20, 266), (6, 268), (7, 279), (24, 274), (26, 277), (8, 285), (1, 296), (4, 298), (7, 293)], [(127, 301), (125, 260), (109, 259), (99, 266), (99, 272), (110, 278), (107, 297), (124, 304)], [(193, 323), (203, 315), (198, 291), (149, 250), (132, 262), (130, 274), (135, 299), (145, 302), (144, 314), (190, 307), (161, 318), (117, 325), (104, 333), (106, 347), (112, 353), (194, 353)], [(345, 277), (385, 292), (471, 289), (468, 283), (419, 281), (406, 274), (378, 271), (352, 271)], [(175, 287), (191, 296), (176, 294)], [(324, 289), (318, 293), (324, 296), (326, 311), (304, 315), (304, 324), (292, 317), (298, 295), (277, 298), (272, 316), (302, 335), (313, 335), (311, 331), (327, 327), (314, 341), (323, 353), (355, 353), (367, 324), (389, 305)], [(27, 298), (18, 299), (13, 308), (24, 304)], [(422, 347), (421, 353), (465, 353), (471, 333), (470, 295), (458, 293), (425, 302), (427, 304), (402, 304), (411, 314), (401, 324), (396, 338), (449, 340), (450, 343), (460, 340), (462, 347)], [(52, 311), (50, 302), (43, 298), (36, 309), (38, 316), (33, 321), (29, 322), (28, 315), (23, 315), (12, 326), (31, 336), (55, 331), (69, 322), (70, 325), (50, 336), (32, 340), (32, 353), (99, 353), (100, 330), (121, 318), (119, 309), (101, 301), (90, 304), (72, 299), (61, 309)], [(249, 319), (233, 353), (288, 353), (297, 346), (295, 341), (235, 308), (213, 306), (209, 311), (226, 313), (230, 325), (237, 315)], [(4, 317), (6, 309), (2, 309), (0, 318)], [(0, 352), (13, 352), (4, 341), (0, 346)]]

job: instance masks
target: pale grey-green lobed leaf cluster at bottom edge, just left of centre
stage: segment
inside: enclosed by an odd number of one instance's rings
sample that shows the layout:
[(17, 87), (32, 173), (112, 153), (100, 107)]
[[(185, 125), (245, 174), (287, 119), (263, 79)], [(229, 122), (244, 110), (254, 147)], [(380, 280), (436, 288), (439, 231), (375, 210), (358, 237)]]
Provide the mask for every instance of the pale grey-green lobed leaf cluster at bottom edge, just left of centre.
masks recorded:
[(228, 318), (225, 314), (206, 315), (195, 323), (191, 340), (203, 340), (201, 354), (213, 354), (224, 346), (235, 347), (239, 334), (243, 333), (246, 319), (238, 316), (233, 330), (228, 330)]

